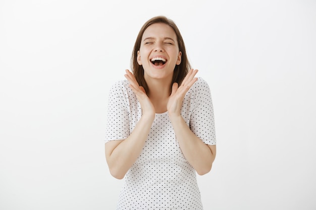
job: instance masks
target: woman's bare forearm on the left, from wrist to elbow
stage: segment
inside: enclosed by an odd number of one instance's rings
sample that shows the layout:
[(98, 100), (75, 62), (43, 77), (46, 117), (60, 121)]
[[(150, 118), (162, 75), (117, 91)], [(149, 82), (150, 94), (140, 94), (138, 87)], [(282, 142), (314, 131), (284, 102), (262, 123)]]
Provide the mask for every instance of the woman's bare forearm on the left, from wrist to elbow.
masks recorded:
[(146, 142), (152, 122), (152, 117), (142, 116), (129, 137), (108, 151), (107, 162), (114, 177), (123, 178), (135, 163)]

